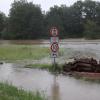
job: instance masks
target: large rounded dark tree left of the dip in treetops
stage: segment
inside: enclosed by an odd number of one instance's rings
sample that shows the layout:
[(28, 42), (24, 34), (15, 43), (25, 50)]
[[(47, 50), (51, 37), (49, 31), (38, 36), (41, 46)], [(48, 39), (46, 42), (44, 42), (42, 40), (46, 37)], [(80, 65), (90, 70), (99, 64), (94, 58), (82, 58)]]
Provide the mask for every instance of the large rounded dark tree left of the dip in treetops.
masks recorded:
[(43, 34), (43, 15), (38, 5), (26, 0), (14, 1), (9, 14), (12, 39), (36, 39)]

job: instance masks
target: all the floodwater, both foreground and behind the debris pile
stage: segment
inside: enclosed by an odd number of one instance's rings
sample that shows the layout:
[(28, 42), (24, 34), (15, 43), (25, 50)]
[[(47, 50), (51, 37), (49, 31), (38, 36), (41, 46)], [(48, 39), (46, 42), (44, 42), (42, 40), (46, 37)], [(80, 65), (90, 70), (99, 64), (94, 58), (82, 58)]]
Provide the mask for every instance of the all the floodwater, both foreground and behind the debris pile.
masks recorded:
[[(7, 42), (8, 43), (8, 42)], [(43, 44), (42, 47), (50, 47)], [(73, 57), (93, 57), (100, 60), (99, 43), (64, 43), (58, 62), (65, 63)], [(50, 59), (50, 58), (49, 58)], [(48, 58), (43, 62), (50, 62)], [(39, 61), (38, 61), (39, 62)], [(100, 84), (64, 75), (53, 75), (46, 70), (22, 68), (20, 64), (0, 65), (0, 82), (8, 82), (30, 91), (45, 94), (48, 100), (100, 100)]]

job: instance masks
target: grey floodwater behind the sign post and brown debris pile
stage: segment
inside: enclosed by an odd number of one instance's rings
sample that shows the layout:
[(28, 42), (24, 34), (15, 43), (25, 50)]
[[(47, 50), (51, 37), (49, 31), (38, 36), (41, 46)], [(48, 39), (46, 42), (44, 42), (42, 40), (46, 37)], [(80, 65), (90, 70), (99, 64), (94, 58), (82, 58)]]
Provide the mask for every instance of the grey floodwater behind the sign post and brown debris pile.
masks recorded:
[[(43, 44), (40, 47), (50, 48), (50, 44)], [(73, 61), (73, 58), (91, 58), (100, 61), (100, 42), (95, 43), (78, 43), (78, 42), (65, 42), (59, 44), (59, 56), (56, 59), (57, 63), (65, 63)], [(39, 62), (51, 63), (51, 58), (48, 56)]]

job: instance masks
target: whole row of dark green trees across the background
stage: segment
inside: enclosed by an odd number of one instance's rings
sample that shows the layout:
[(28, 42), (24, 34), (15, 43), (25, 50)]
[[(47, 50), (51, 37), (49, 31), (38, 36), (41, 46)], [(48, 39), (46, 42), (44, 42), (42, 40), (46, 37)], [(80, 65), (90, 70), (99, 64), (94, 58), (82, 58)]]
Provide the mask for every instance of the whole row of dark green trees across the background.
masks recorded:
[(70, 7), (55, 5), (43, 12), (40, 5), (14, 0), (5, 16), (0, 12), (1, 39), (42, 39), (56, 26), (60, 38), (100, 38), (100, 2), (77, 1)]

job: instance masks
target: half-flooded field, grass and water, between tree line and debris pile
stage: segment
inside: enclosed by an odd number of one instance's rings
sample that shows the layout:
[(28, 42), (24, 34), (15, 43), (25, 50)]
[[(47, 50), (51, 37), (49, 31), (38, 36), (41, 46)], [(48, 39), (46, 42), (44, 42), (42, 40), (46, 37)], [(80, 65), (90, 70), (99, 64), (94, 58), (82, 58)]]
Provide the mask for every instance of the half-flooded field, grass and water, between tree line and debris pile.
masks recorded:
[[(100, 40), (65, 39), (60, 40), (59, 46), (59, 63), (73, 57), (100, 58)], [(0, 60), (42, 60), (43, 64), (51, 62), (50, 54), (49, 40), (0, 41)]]

